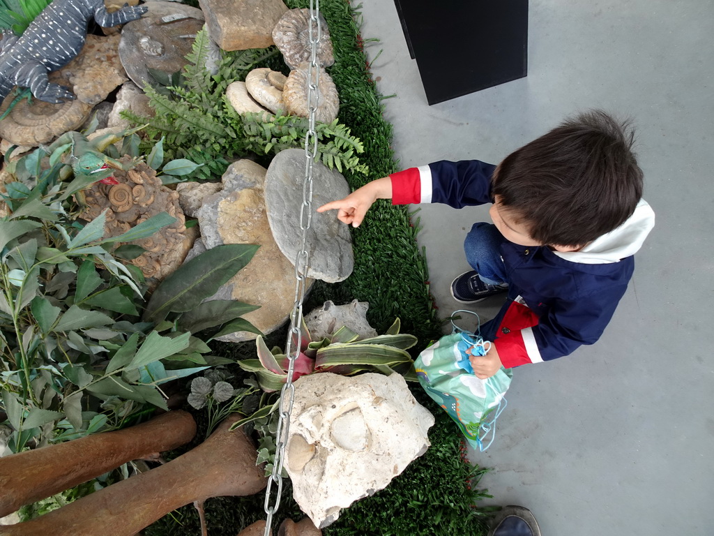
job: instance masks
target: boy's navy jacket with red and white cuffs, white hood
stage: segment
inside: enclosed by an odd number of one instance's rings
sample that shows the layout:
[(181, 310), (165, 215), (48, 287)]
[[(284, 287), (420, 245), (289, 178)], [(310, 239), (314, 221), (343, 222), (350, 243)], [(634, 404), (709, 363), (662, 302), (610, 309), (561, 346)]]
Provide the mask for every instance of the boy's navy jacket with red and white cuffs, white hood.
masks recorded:
[[(435, 162), (391, 175), (392, 202), (444, 203), (460, 209), (492, 203), (495, 166), (469, 160)], [(640, 200), (620, 227), (578, 252), (553, 252), (505, 241), (501, 256), (508, 299), (483, 326), (504, 367), (549, 361), (600, 338), (633, 274), (633, 254), (654, 226), (654, 213)]]

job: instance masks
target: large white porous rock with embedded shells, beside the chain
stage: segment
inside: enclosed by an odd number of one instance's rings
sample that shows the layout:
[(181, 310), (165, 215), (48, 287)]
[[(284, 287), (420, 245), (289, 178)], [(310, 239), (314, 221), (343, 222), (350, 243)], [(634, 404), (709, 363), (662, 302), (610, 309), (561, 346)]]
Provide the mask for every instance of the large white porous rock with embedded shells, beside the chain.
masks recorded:
[(318, 528), (386, 487), (430, 443), (434, 417), (400, 374), (309, 374), (295, 384), (286, 469)]

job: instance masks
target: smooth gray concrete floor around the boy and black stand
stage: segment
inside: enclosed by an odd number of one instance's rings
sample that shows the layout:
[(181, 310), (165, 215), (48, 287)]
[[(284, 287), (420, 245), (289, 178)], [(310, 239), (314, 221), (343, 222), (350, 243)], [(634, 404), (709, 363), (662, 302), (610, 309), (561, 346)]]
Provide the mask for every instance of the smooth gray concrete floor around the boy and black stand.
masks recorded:
[[(438, 9), (438, 2), (433, 9)], [(638, 126), (657, 224), (598, 344), (516, 369), (496, 442), (471, 459), (493, 504), (533, 510), (543, 535), (714, 534), (713, 80), (710, 0), (534, 0), (528, 76), (426, 104), (391, 0), (364, 0), (363, 36), (403, 167), (497, 163), (568, 114), (600, 107)], [(448, 29), (445, 29), (448, 31)], [(478, 61), (478, 54), (474, 54)], [(457, 74), (448, 74), (457, 76)], [(486, 207), (422, 206), (441, 311)], [(481, 304), (479, 304), (480, 306)], [(489, 318), (498, 303), (476, 307)], [(710, 326), (709, 328), (707, 326)], [(461, 535), (459, 535), (461, 536)]]

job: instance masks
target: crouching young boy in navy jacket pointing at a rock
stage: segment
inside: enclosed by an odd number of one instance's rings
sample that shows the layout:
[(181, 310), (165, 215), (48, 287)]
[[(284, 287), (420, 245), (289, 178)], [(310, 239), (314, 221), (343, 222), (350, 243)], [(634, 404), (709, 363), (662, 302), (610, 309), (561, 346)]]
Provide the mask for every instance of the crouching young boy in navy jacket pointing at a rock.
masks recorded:
[(493, 225), (477, 222), (466, 237), (473, 271), (451, 284), (462, 303), (508, 292), (481, 327), (491, 350), (471, 359), (476, 376), (488, 378), (502, 364), (550, 361), (603, 333), (632, 277), (633, 255), (654, 226), (632, 146), (627, 124), (590, 111), (498, 166), (471, 160), (406, 169), (317, 212), (337, 209), (338, 219), (358, 227), (376, 199), (457, 209), (493, 203)]

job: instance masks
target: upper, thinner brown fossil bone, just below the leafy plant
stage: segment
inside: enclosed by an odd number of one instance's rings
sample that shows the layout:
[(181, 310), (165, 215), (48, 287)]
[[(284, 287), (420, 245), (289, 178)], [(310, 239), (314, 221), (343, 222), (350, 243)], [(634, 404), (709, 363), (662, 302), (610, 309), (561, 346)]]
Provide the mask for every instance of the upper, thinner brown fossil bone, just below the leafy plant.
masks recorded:
[(0, 517), (130, 460), (184, 445), (194, 435), (193, 417), (178, 410), (124, 430), (0, 458)]

